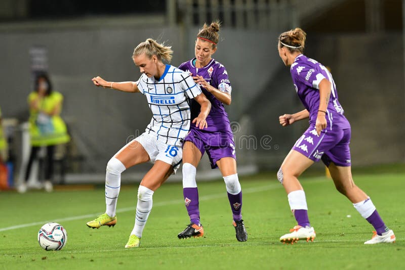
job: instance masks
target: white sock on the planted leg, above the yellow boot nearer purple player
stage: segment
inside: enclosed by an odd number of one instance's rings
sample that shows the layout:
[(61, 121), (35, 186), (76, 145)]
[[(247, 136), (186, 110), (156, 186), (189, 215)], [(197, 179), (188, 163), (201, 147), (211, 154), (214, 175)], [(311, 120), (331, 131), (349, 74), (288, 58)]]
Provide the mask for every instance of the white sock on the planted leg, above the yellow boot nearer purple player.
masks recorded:
[(153, 196), (152, 190), (144, 186), (139, 186), (138, 204), (136, 206), (136, 215), (135, 215), (135, 225), (134, 229), (132, 229), (131, 235), (136, 235), (139, 238), (142, 237), (143, 228), (145, 227), (149, 213), (152, 210), (152, 196)]

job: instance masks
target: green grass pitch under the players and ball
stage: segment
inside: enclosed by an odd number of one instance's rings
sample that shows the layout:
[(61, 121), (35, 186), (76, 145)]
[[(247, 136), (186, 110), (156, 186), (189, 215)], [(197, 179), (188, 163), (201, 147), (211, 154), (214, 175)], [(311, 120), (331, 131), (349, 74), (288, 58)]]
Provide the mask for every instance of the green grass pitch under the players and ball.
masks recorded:
[[(320, 173), (321, 174), (321, 173)], [(355, 174), (371, 196), (396, 243), (366, 246), (372, 226), (323, 176), (300, 178), (305, 189), (313, 243), (283, 245), (278, 239), (295, 225), (287, 195), (275, 174), (240, 177), (247, 242), (235, 239), (222, 181), (200, 182), (205, 236), (179, 240), (188, 224), (181, 183), (167, 183), (153, 196), (141, 247), (125, 249), (134, 225), (137, 184), (121, 187), (114, 228), (87, 228), (105, 210), (104, 188), (82, 191), (0, 193), (0, 269), (399, 269), (404, 268), (405, 173)], [(61, 223), (68, 241), (45, 251), (36, 237), (43, 223)]]

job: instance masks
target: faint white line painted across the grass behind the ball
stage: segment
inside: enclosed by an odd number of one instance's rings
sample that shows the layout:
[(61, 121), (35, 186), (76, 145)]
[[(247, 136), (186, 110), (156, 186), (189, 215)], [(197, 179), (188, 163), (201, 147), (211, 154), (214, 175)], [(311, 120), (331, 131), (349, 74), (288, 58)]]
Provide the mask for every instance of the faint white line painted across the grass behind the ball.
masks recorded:
[[(242, 192), (244, 194), (256, 193), (256, 192), (262, 192), (262, 191), (267, 191), (267, 190), (272, 190), (272, 189), (277, 189), (277, 188), (282, 188), (282, 186), (280, 184), (276, 183), (276, 184), (268, 185), (268, 186), (247, 188), (247, 189), (242, 190)], [(219, 199), (219, 198), (222, 198), (224, 196), (225, 196), (224, 193), (201, 196), (199, 198), (199, 201), (208, 201), (208, 200), (211, 200), (211, 199)], [(183, 200), (172, 200), (172, 201), (166, 201), (166, 202), (157, 202), (157, 203), (153, 204), (153, 207), (172, 205), (172, 204), (180, 204), (180, 203), (184, 203)], [(123, 212), (129, 212), (129, 211), (135, 211), (135, 206), (126, 207), (126, 208), (120, 208), (120, 209), (116, 210), (117, 213), (123, 213)], [(15, 230), (15, 229), (20, 229), (20, 228), (26, 228), (26, 227), (31, 227), (31, 226), (43, 225), (43, 224), (48, 223), (48, 222), (63, 222), (63, 221), (71, 221), (71, 220), (77, 220), (77, 219), (82, 219), (82, 218), (88, 218), (88, 217), (93, 217), (93, 216), (99, 215), (99, 214), (100, 213), (87, 214), (87, 215), (79, 215), (79, 216), (58, 218), (58, 219), (54, 219), (53, 221), (46, 220), (46, 221), (37, 221), (37, 222), (32, 222), (32, 223), (25, 223), (25, 224), (15, 225), (15, 226), (11, 226), (11, 227), (6, 227), (6, 228), (0, 228), (0, 232), (10, 231), (10, 230)]]

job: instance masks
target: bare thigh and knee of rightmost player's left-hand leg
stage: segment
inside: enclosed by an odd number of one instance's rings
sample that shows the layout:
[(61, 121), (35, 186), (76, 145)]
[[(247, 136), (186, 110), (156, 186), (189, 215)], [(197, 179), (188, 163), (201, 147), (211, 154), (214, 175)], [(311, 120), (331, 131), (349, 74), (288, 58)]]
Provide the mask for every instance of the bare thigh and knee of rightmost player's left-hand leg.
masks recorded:
[(303, 190), (297, 177), (313, 163), (311, 159), (295, 150), (291, 150), (288, 153), (280, 167), (282, 171), (282, 185), (286, 189), (287, 194), (292, 191)]

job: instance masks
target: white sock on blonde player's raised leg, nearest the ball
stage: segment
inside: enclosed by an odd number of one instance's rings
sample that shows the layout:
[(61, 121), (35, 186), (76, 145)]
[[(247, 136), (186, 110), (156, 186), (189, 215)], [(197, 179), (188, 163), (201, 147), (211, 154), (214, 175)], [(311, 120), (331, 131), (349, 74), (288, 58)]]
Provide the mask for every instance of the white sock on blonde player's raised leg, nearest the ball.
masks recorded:
[(121, 185), (121, 173), (125, 170), (124, 164), (114, 157), (107, 163), (107, 172), (105, 173), (105, 212), (111, 217), (115, 216)]

